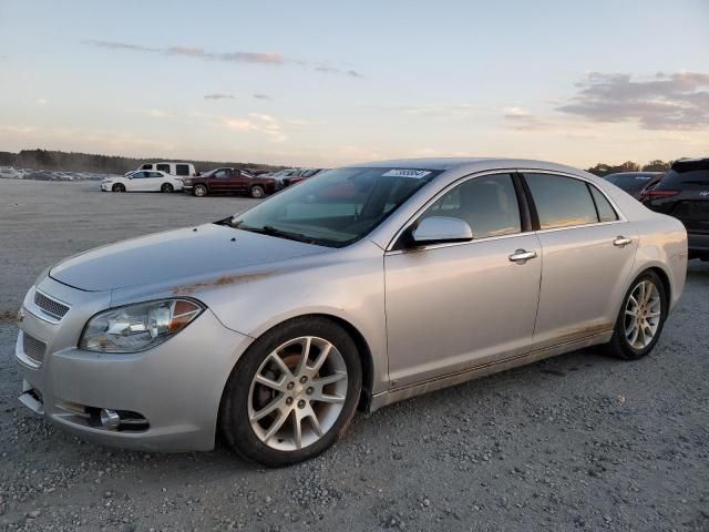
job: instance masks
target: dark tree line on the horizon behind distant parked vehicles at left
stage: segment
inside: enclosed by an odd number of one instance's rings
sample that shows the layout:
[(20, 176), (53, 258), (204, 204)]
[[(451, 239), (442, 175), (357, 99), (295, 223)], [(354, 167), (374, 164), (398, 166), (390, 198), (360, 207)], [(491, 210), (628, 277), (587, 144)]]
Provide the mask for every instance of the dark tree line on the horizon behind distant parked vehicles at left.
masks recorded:
[[(124, 174), (129, 170), (135, 170), (146, 162), (174, 161), (173, 157), (122, 157), (116, 155), (99, 155), (93, 153), (60, 152), (53, 150), (22, 150), (19, 153), (0, 152), (0, 166), (14, 166), (17, 168), (93, 172), (97, 174)], [(205, 172), (219, 166), (235, 168), (271, 171), (282, 166), (274, 166), (261, 163), (235, 163), (224, 161), (192, 161), (198, 172)]]

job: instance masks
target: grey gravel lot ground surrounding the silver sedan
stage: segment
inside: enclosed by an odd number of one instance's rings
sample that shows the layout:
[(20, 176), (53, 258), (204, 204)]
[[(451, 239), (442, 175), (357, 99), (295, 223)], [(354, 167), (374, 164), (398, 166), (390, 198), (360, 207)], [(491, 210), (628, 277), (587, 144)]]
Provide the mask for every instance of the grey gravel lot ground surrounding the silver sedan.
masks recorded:
[(359, 415), (290, 469), (97, 447), (17, 402), (14, 313), (45, 266), (250, 202), (0, 180), (1, 530), (709, 530), (709, 264), (644, 360), (589, 349)]

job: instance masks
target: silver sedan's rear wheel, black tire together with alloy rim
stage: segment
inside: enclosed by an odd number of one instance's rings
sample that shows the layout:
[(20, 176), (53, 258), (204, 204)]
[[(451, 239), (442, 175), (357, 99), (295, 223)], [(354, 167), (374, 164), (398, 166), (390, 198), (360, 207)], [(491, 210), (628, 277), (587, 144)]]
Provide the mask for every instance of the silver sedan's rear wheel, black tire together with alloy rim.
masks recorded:
[[(641, 303), (643, 295), (639, 293), (640, 285), (645, 286), (646, 296), (645, 303)], [(653, 288), (649, 288), (651, 286)], [(640, 304), (634, 305), (630, 301), (637, 300)], [(649, 299), (647, 299), (649, 297)], [(658, 308), (659, 306), (659, 308)], [(665, 320), (667, 319), (668, 310), (667, 291), (662, 284), (662, 280), (655, 272), (645, 272), (640, 274), (630, 285), (628, 291), (623, 298), (623, 305), (616, 319), (616, 326), (610, 338), (610, 342), (607, 345), (608, 352), (623, 360), (638, 360), (648, 355), (656, 346), (662, 332)], [(633, 328), (635, 317), (629, 313), (640, 313), (645, 316), (645, 323), (647, 327)], [(656, 316), (657, 315), (657, 316)], [(633, 342), (635, 330), (637, 329), (636, 341)], [(653, 331), (651, 337), (648, 339), (647, 331)], [(629, 331), (629, 332), (628, 332)]]

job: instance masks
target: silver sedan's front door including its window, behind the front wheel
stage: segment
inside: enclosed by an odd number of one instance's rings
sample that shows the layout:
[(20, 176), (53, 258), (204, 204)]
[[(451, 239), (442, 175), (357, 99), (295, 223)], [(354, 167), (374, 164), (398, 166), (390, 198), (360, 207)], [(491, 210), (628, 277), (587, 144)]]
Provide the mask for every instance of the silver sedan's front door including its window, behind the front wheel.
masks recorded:
[[(424, 217), (465, 221), (473, 239), (384, 256), (389, 374), (393, 387), (524, 352), (532, 342), (541, 247), (524, 232), (513, 176), (471, 177)], [(514, 259), (531, 252), (526, 260)]]

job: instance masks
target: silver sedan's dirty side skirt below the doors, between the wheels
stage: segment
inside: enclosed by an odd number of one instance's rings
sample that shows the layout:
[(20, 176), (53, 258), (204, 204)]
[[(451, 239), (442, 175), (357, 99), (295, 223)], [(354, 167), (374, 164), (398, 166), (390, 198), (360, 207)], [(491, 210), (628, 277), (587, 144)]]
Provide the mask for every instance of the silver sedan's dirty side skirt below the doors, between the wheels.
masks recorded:
[(527, 364), (536, 362), (545, 358), (564, 355), (566, 352), (583, 349), (585, 347), (595, 346), (599, 344), (606, 344), (610, 341), (613, 330), (599, 332), (579, 340), (558, 344), (553, 347), (540, 349), (536, 351), (525, 352), (511, 358), (505, 358), (496, 362), (490, 362), (482, 366), (475, 366), (470, 369), (456, 371), (455, 374), (449, 374), (434, 379), (424, 380), (413, 385), (409, 385), (401, 388), (393, 388), (381, 393), (372, 396), (369, 406), (369, 411), (373, 412), (382, 407), (392, 405), (394, 402), (403, 401), (429, 391), (440, 390), (450, 386), (461, 385), (469, 380), (479, 379), (487, 375), (497, 374), (507, 369), (516, 368), (518, 366), (525, 366)]

